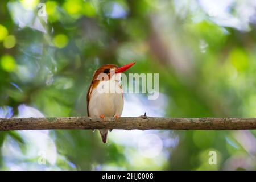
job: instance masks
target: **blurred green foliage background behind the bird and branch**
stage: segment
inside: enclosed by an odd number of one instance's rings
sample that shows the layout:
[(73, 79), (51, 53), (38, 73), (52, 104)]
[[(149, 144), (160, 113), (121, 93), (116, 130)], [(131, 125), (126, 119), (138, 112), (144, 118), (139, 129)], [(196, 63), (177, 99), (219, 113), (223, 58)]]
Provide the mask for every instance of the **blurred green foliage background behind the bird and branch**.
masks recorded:
[[(46, 8), (46, 11), (44, 11)], [(0, 117), (86, 115), (95, 69), (136, 61), (159, 98), (122, 116), (256, 117), (256, 1), (0, 1)], [(256, 131), (0, 132), (2, 170), (250, 170)], [(209, 152), (217, 164), (210, 165)]]

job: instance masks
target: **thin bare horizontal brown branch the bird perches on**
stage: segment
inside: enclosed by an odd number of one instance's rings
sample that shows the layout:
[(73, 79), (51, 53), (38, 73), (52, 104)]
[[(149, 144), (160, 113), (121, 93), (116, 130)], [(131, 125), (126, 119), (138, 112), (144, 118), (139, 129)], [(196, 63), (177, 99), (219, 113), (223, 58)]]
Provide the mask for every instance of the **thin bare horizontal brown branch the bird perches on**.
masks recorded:
[(58, 129), (253, 130), (256, 118), (0, 118), (0, 131)]

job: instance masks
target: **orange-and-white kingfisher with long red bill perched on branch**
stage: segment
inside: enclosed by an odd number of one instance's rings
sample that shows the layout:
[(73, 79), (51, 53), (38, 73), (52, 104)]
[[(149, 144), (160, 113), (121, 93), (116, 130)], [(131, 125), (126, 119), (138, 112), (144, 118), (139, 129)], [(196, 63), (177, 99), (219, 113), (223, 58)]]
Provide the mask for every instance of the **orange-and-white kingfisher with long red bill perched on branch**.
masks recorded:
[[(105, 64), (94, 71), (87, 92), (87, 114), (89, 117), (99, 117), (103, 120), (105, 117), (114, 117), (118, 121), (123, 111), (121, 73), (134, 64), (135, 62), (131, 62), (122, 67), (115, 64)], [(105, 89), (105, 92), (102, 92), (101, 89)], [(100, 129), (99, 131), (102, 142), (106, 143), (108, 130)]]

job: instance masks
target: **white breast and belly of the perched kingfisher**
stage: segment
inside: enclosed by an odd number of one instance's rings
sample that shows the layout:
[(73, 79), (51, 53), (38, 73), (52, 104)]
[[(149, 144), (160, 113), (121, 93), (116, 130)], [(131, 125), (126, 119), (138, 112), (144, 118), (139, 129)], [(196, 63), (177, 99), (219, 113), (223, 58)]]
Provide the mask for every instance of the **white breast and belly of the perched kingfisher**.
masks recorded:
[[(110, 79), (102, 81), (104, 85), (109, 85), (109, 93), (98, 92), (98, 86), (92, 90), (88, 109), (90, 116), (99, 117), (103, 114), (105, 117), (114, 117), (114, 115), (121, 116), (123, 111), (123, 93), (119, 81)], [(113, 88), (114, 87), (114, 88)], [(115, 89), (115, 93), (110, 93), (110, 90)]]

